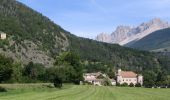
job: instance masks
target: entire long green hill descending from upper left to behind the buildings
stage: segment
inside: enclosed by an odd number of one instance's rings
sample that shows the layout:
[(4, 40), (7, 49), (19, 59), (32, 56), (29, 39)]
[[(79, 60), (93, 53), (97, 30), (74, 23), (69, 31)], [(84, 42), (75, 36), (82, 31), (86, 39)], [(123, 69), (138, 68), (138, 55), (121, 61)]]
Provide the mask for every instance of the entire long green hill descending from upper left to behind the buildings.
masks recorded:
[(82, 61), (103, 62), (102, 67), (110, 64), (137, 72), (163, 67), (153, 53), (77, 37), (15, 0), (0, 1), (0, 31), (7, 34), (6, 40), (0, 40), (0, 52), (24, 64), (53, 66), (57, 55), (71, 51)]

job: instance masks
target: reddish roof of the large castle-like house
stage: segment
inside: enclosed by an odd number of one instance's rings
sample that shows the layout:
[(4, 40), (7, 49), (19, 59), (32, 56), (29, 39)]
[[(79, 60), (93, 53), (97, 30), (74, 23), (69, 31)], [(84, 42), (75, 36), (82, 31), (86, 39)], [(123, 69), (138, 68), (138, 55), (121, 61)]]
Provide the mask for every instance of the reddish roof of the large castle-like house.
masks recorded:
[(123, 78), (136, 78), (137, 74), (132, 71), (121, 71), (120, 75)]

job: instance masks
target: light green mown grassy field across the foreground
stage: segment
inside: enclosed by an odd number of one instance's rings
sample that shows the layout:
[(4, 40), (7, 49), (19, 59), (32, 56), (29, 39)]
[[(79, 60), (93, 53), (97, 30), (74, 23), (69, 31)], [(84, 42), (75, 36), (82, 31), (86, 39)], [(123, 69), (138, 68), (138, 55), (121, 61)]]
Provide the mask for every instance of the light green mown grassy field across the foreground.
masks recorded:
[(1, 84), (8, 92), (0, 100), (170, 100), (170, 89), (64, 85), (62, 89), (46, 84)]

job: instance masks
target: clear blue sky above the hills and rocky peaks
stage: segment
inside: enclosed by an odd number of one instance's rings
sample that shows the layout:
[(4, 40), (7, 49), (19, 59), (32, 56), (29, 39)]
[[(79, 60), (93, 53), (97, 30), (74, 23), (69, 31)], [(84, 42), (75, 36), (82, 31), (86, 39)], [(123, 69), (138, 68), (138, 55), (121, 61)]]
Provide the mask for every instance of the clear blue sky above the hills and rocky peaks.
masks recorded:
[(77, 36), (95, 39), (119, 25), (170, 22), (170, 0), (18, 0)]

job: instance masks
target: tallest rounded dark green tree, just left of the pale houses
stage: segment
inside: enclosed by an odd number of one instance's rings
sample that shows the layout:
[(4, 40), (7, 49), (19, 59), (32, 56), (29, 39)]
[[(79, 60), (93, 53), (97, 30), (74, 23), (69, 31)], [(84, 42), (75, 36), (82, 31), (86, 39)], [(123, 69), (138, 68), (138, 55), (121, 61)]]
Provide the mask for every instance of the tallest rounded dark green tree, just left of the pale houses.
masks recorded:
[[(83, 67), (78, 55), (72, 52), (64, 52), (56, 58), (56, 66), (67, 66), (70, 69), (66, 77), (73, 83), (79, 84), (83, 80)], [(65, 68), (66, 69), (66, 68)], [(64, 73), (64, 72), (63, 72)]]

